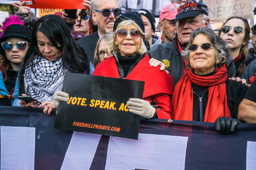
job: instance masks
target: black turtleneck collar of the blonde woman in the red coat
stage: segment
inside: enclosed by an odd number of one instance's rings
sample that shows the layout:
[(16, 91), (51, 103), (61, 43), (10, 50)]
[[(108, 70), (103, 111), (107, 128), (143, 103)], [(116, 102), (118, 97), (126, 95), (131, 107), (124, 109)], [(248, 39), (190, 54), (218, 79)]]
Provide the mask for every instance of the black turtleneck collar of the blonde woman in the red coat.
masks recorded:
[(128, 72), (129, 72), (129, 69), (131, 68), (132, 64), (135, 63), (140, 56), (141, 55), (139, 55), (139, 54), (136, 54), (134, 56), (132, 56), (132, 55), (122, 56), (120, 54), (117, 54), (118, 63), (124, 69), (124, 77), (127, 76)]

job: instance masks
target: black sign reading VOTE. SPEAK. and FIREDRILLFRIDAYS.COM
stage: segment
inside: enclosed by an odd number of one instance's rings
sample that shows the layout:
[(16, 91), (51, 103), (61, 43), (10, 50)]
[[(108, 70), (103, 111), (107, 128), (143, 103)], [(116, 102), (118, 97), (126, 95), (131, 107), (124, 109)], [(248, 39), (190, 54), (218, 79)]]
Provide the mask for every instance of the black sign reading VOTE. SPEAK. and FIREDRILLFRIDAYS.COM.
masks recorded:
[(144, 82), (66, 73), (62, 90), (68, 102), (59, 102), (56, 129), (138, 139), (140, 116), (130, 113), (129, 98), (142, 99)]

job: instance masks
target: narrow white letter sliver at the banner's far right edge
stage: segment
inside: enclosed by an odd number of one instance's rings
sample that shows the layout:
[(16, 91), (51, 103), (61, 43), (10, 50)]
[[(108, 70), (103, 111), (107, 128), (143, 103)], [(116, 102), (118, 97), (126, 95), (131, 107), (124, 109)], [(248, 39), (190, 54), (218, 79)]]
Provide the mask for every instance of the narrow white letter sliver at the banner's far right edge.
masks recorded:
[(256, 167), (256, 142), (247, 141), (246, 170), (255, 170)]

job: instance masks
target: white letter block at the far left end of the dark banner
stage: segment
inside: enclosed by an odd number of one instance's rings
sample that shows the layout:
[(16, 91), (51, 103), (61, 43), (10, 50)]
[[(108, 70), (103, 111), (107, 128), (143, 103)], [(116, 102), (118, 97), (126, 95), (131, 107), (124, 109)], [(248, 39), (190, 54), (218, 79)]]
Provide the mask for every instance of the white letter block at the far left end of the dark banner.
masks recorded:
[(34, 170), (35, 128), (0, 126), (1, 170)]

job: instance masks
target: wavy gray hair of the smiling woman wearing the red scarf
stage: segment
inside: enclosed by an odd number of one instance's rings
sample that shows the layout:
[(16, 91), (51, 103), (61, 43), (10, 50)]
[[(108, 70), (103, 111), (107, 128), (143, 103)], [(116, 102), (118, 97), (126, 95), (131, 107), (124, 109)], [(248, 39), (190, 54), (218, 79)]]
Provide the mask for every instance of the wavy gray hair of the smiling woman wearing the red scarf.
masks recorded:
[(216, 48), (215, 60), (217, 58), (220, 60), (219, 64), (217, 64), (217, 67), (221, 67), (223, 64), (227, 66), (228, 57), (231, 56), (231, 51), (228, 43), (224, 41), (221, 37), (217, 36), (211, 28), (198, 28), (191, 32), (187, 48), (181, 53), (188, 62), (187, 68), (191, 68), (189, 61), (190, 51), (188, 50), (188, 47), (193, 43), (195, 37), (199, 34), (206, 35), (210, 40), (211, 44)]

